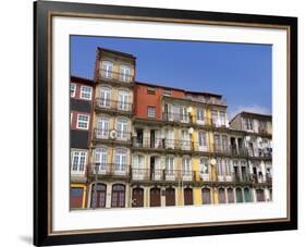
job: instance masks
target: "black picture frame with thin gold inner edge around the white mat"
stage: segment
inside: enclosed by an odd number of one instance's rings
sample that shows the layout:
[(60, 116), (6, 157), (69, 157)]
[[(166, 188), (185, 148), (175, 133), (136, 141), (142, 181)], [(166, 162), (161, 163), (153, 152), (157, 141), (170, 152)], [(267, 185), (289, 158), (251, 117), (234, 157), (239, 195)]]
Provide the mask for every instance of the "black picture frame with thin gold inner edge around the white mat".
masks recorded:
[[(290, 212), (287, 221), (242, 224), (216, 224), (210, 226), (147, 229), (139, 231), (115, 231), (93, 233), (50, 232), (49, 205), (51, 157), (49, 148), (52, 144), (51, 133), (51, 89), (50, 72), (50, 17), (52, 13), (65, 16), (70, 14), (94, 14), (112, 16), (134, 16), (163, 20), (209, 21), (218, 25), (283, 25), (289, 28), (289, 192)], [(133, 17), (131, 17), (133, 20)], [(85, 244), (97, 242), (118, 242), (150, 238), (186, 237), (219, 235), (233, 233), (250, 233), (266, 231), (283, 231), (297, 229), (297, 18), (287, 16), (267, 16), (253, 14), (235, 14), (219, 12), (185, 11), (170, 9), (150, 9), (102, 4), (84, 4), (69, 2), (34, 2), (34, 245)]]

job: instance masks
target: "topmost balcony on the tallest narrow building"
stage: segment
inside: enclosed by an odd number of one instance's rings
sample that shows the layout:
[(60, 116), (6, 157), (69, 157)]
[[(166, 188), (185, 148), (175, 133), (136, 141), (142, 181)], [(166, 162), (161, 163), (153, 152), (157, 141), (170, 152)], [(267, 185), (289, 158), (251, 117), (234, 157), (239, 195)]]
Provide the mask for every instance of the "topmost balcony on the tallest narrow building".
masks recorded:
[(98, 79), (102, 81), (103, 83), (107, 82), (131, 86), (134, 82), (134, 76), (128, 73), (119, 73), (110, 70), (100, 70)]

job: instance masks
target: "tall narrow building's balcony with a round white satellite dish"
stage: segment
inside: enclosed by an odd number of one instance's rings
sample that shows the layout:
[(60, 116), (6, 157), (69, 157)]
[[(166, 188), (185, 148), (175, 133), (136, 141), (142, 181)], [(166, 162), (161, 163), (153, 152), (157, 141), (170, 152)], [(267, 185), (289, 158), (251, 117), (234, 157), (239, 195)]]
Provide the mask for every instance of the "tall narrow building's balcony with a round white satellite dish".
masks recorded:
[(94, 139), (95, 140), (109, 140), (109, 141), (120, 141), (120, 143), (130, 144), (131, 136), (132, 136), (131, 132), (94, 128)]

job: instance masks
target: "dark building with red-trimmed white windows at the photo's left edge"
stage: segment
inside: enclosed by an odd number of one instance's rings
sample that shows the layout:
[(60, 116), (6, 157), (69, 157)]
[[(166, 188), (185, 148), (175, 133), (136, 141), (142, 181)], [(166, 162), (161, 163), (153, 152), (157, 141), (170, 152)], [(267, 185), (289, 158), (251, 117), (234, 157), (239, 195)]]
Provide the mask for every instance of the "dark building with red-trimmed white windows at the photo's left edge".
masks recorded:
[(91, 121), (93, 86), (90, 79), (71, 76), (70, 83), (70, 208), (86, 208), (87, 163)]

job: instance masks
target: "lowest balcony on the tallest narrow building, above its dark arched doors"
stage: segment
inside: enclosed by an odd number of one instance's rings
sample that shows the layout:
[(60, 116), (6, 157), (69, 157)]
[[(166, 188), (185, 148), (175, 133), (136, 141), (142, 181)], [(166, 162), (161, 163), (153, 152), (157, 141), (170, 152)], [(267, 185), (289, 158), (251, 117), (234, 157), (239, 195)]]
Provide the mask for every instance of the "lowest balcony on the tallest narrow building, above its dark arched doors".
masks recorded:
[[(128, 178), (128, 164), (118, 164), (118, 163), (91, 163), (88, 165), (88, 175), (108, 177), (125, 177)], [(98, 172), (98, 173), (97, 173)]]

